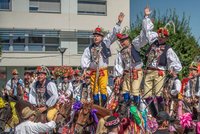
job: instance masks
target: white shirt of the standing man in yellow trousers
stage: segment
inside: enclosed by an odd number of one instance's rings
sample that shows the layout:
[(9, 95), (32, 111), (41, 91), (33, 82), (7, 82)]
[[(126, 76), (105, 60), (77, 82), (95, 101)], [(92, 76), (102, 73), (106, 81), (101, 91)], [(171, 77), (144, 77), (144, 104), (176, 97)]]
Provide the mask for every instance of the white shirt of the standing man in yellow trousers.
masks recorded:
[[(103, 39), (103, 42), (105, 43), (107, 48), (110, 48), (110, 45), (117, 39), (116, 34), (119, 33), (120, 30), (121, 30), (121, 27), (119, 25), (116, 25), (113, 28), (113, 31), (108, 33), (106, 35), (106, 37)], [(101, 45), (101, 44), (99, 44), (99, 45)], [(97, 68), (97, 65), (94, 64), (93, 62), (91, 62), (90, 57), (91, 57), (90, 49), (89, 49), (89, 47), (87, 47), (84, 50), (84, 53), (83, 53), (83, 55), (81, 57), (81, 67), (83, 69), (86, 69), (86, 68), (96, 69)], [(100, 55), (99, 67), (100, 68), (104, 68), (104, 67), (107, 67), (107, 66), (108, 66), (108, 59), (104, 59), (102, 57), (102, 55)]]

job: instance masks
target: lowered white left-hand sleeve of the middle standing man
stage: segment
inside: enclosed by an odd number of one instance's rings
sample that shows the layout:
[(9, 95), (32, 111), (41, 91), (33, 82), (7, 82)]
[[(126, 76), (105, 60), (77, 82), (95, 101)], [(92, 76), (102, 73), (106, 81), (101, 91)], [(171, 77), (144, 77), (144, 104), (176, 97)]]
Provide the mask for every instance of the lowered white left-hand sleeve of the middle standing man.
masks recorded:
[(115, 65), (114, 65), (114, 77), (122, 76), (123, 75), (123, 62), (121, 58), (121, 54), (119, 53), (117, 55), (117, 58), (115, 60)]

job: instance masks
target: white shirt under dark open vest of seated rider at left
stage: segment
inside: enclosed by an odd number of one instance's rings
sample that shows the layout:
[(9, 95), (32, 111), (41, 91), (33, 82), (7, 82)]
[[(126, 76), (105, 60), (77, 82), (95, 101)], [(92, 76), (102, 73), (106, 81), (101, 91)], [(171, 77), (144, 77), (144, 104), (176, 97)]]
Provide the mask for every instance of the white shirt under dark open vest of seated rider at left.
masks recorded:
[[(51, 81), (47, 84), (46, 88), (47, 88), (47, 93), (50, 95), (50, 98), (46, 101), (46, 105), (48, 107), (52, 107), (56, 104), (56, 102), (58, 100), (58, 90), (57, 90), (56, 84)], [(36, 82), (33, 83), (33, 86), (30, 90), (29, 102), (33, 105), (38, 105), (37, 104), (37, 93), (36, 93)]]

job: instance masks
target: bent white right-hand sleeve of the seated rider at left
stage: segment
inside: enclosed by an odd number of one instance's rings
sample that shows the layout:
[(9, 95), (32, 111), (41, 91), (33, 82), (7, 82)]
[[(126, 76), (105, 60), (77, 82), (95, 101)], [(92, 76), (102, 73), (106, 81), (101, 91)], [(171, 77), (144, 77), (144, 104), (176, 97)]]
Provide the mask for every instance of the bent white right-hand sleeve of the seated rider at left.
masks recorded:
[(58, 89), (56, 87), (56, 84), (53, 82), (49, 82), (47, 84), (47, 93), (51, 96), (47, 101), (46, 105), (48, 107), (52, 107), (56, 104), (58, 100)]

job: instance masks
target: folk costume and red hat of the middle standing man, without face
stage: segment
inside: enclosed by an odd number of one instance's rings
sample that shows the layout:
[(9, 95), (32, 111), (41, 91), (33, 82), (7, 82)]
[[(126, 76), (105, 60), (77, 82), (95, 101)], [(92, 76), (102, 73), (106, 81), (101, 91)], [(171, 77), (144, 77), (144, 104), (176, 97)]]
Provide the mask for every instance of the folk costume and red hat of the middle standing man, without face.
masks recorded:
[[(147, 18), (144, 18), (145, 21)], [(147, 39), (145, 36), (144, 27), (146, 23), (143, 23), (143, 29), (135, 39), (132, 40), (132, 44), (129, 46), (123, 47), (122, 50), (117, 55), (114, 66), (114, 75), (115, 77), (123, 76), (123, 96), (124, 100), (128, 101), (131, 95), (131, 99), (135, 103), (140, 101), (140, 85), (143, 77), (142, 66), (143, 62), (140, 57), (140, 48), (146, 45)], [(120, 42), (125, 40), (130, 40), (128, 35), (117, 34), (117, 37)]]

